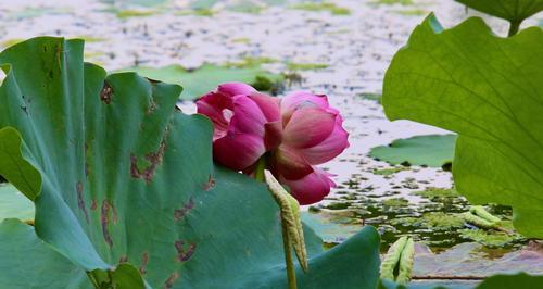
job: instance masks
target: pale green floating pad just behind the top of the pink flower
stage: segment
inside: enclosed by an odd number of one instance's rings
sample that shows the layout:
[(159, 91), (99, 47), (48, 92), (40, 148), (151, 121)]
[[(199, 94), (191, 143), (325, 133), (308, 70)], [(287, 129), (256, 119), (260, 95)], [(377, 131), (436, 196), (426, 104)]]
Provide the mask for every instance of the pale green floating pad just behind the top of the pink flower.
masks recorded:
[(187, 71), (179, 65), (168, 65), (160, 68), (134, 67), (124, 71), (134, 71), (151, 79), (182, 85), (184, 91), (180, 98), (185, 100), (197, 99), (223, 83), (241, 81), (252, 84), (256, 80), (256, 76), (263, 76), (273, 81), (280, 79), (279, 75), (264, 71), (257, 65), (252, 67), (224, 67), (205, 64), (193, 71)]

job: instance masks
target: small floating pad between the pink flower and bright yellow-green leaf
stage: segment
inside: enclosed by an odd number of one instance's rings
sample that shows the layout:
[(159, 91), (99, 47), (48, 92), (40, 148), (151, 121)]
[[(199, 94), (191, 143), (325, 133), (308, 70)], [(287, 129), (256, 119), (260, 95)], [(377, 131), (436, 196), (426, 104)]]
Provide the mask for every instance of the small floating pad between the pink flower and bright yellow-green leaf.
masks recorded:
[(441, 167), (454, 156), (456, 135), (417, 136), (396, 139), (389, 146), (372, 148), (369, 156), (390, 164), (412, 164)]

